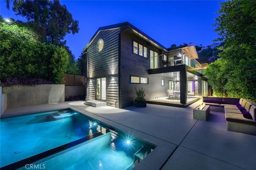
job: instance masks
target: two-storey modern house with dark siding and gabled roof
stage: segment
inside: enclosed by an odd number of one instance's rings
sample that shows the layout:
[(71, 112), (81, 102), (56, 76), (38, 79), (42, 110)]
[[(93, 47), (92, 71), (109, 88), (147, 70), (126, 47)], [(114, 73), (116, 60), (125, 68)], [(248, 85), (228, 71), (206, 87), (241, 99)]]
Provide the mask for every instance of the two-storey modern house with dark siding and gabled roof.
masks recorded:
[[(208, 94), (207, 79), (194, 44), (166, 48), (123, 22), (100, 27), (83, 50), (87, 54), (87, 100), (119, 108), (134, 105), (135, 89), (146, 100), (178, 100)], [(176, 95), (167, 99), (168, 90)]]

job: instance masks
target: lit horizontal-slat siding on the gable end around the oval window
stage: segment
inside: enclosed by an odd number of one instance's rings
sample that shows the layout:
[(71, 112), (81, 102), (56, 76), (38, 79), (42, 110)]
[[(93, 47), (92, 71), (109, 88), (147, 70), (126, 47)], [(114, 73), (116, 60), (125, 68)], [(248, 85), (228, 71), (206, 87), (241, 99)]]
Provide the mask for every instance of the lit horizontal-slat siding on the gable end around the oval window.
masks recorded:
[[(95, 79), (106, 77), (106, 102), (107, 105), (118, 106), (118, 55), (119, 55), (120, 29), (101, 31), (87, 49), (88, 55), (88, 93), (87, 99), (95, 99)], [(98, 51), (97, 43), (100, 38), (104, 41), (102, 51)]]

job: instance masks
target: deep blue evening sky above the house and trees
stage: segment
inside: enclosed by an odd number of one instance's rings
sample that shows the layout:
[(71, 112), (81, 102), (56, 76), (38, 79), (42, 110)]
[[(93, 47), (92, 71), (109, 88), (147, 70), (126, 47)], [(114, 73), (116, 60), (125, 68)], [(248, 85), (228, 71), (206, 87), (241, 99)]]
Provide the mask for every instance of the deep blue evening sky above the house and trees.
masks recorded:
[[(219, 1), (84, 1), (61, 0), (74, 20), (79, 22), (79, 32), (65, 39), (76, 59), (82, 49), (101, 26), (130, 22), (142, 32), (165, 47), (172, 44), (194, 43), (210, 45), (216, 39), (212, 24), (218, 17)], [(26, 19), (16, 16), (0, 1), (3, 18)]]

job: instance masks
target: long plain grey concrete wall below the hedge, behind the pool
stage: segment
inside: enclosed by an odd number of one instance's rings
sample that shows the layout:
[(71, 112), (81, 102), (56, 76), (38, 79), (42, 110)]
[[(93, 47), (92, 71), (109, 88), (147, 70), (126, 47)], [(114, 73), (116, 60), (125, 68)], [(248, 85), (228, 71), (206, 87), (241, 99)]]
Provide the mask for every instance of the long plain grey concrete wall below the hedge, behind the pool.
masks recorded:
[(3, 87), (7, 107), (59, 103), (65, 100), (65, 85), (36, 85)]

